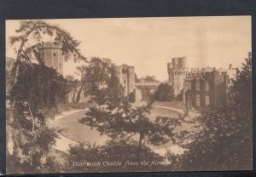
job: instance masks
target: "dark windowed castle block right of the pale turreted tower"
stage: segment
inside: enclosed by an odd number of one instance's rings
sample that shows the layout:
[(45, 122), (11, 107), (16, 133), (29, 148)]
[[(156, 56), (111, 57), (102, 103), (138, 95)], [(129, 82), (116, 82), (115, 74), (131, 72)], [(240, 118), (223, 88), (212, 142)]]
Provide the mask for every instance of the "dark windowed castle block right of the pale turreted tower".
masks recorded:
[(188, 109), (200, 110), (208, 105), (225, 102), (230, 78), (235, 78), (236, 69), (192, 69), (184, 79), (183, 102)]

